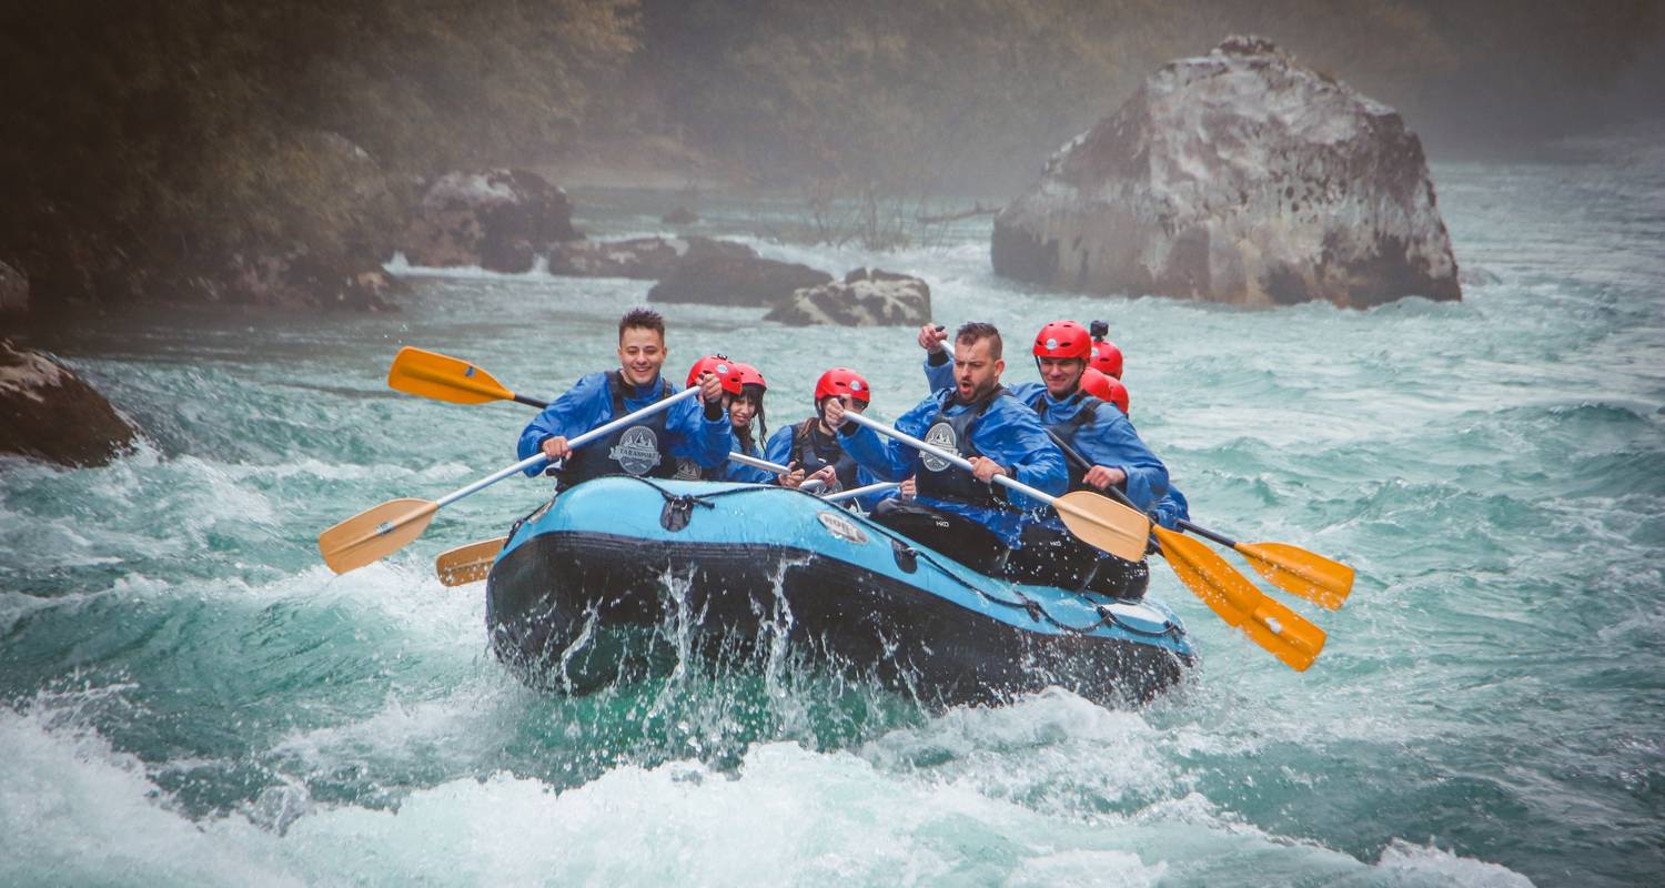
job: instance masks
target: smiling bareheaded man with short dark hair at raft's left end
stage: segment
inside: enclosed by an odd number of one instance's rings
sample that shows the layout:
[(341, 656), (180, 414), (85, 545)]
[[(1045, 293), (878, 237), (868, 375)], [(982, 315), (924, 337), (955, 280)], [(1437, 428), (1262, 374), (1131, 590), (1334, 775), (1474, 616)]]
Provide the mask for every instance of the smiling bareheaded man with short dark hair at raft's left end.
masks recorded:
[[(706, 468), (723, 465), (731, 433), (723, 383), (714, 373), (699, 380), (701, 405), (679, 402), (578, 450), (566, 443), (676, 393), (676, 387), (659, 375), (668, 350), (664, 318), (658, 312), (634, 308), (619, 320), (618, 355), (618, 370), (578, 380), (526, 425), (516, 448), (519, 458), (543, 451), (551, 461), (564, 460), (558, 471), (563, 488), (601, 475), (669, 478), (676, 475), (678, 456)], [(536, 473), (536, 468), (526, 471)]]

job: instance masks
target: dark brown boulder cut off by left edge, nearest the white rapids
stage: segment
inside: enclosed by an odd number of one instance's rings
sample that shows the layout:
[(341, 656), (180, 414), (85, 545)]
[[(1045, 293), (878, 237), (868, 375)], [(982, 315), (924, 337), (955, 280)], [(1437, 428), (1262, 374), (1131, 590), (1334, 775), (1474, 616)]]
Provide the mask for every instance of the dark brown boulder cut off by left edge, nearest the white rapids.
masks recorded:
[(68, 367), (0, 340), (0, 453), (103, 465), (133, 427)]

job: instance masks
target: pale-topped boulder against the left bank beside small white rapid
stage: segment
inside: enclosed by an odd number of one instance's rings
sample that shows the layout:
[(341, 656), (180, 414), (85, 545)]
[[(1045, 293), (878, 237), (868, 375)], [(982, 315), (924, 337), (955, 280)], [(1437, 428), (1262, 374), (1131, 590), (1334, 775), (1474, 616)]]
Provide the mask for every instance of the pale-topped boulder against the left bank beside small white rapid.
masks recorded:
[(401, 248), (411, 265), (521, 273), (538, 255), (581, 237), (566, 192), (538, 173), (453, 172), (428, 185)]

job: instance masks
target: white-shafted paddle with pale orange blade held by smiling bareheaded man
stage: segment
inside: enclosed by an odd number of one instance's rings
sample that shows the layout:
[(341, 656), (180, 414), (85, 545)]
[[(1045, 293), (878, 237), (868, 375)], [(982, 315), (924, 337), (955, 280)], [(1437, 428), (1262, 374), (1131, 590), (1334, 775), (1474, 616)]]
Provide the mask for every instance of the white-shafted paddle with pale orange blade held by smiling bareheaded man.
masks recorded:
[[(583, 446), (596, 438), (611, 435), (614, 430), (623, 428), (643, 417), (651, 417), (653, 413), (668, 410), (676, 402), (688, 400), (694, 395), (699, 395), (698, 388), (678, 392), (676, 395), (654, 402), (634, 413), (628, 413), (606, 425), (591, 428), (566, 443), (574, 448)], [(524, 471), (546, 461), (548, 456), (534, 453), (508, 468), (493, 471), (468, 486), (453, 490), (435, 501), (405, 498), (368, 508), (320, 533), (318, 551), (323, 555), (323, 561), (330, 565), (330, 570), (336, 573), (361, 568), (405, 548), (411, 540), (421, 536), (421, 531), (428, 528), (430, 521), (433, 521), (433, 515), (441, 508), (461, 500), (463, 496), (485, 490), (503, 478), (514, 475), (516, 471)]]

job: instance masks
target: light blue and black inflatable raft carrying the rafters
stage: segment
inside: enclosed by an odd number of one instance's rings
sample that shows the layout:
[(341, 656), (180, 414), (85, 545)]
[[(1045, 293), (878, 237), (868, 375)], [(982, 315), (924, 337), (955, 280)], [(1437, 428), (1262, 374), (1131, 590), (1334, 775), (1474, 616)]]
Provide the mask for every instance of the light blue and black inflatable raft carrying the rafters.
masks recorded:
[(783, 638), (929, 705), (1051, 685), (1147, 700), (1194, 661), (1151, 600), (994, 580), (796, 490), (629, 476), (578, 485), (514, 526), (486, 623), (521, 681), (568, 693)]

